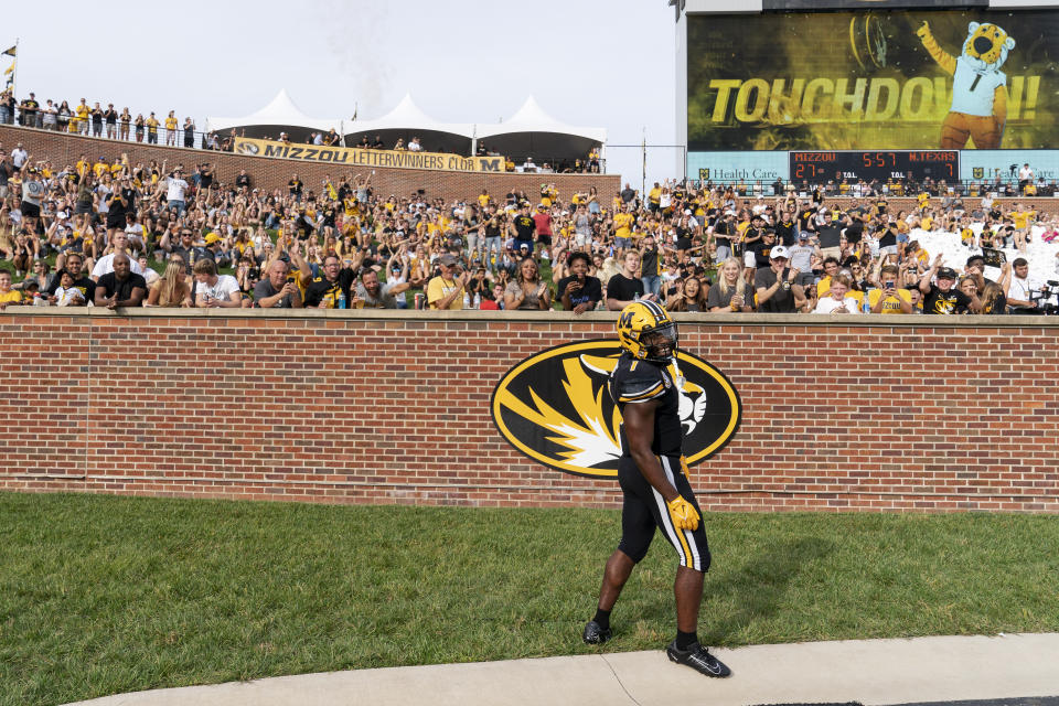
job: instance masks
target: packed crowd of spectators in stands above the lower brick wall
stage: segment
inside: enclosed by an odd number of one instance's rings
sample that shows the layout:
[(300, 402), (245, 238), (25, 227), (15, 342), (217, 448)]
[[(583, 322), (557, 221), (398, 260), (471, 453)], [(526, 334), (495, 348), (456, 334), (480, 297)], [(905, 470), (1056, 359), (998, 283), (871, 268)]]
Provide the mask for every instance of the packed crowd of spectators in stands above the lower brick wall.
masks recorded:
[(1059, 247), (1055, 218), (932, 182), (903, 184), (918, 206), (895, 212), (873, 184), (747, 199), (708, 183), (607, 195), (542, 183), (446, 202), (376, 193), (370, 174), (310, 185), (293, 173), (275, 190), (226, 176), (208, 162), (52, 164), (0, 146), (0, 308), (576, 314), (646, 298), (703, 313), (1027, 313), (1050, 301), (1039, 272), (1053, 276)]

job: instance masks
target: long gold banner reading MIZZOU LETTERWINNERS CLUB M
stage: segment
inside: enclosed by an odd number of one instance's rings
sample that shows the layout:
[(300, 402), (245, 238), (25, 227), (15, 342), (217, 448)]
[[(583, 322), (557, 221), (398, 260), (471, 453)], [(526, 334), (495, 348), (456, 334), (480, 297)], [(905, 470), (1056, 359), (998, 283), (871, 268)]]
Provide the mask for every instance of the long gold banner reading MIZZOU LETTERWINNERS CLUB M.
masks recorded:
[(235, 153), (250, 157), (278, 157), (306, 162), (344, 164), (347, 167), (398, 167), (457, 172), (502, 172), (503, 157), (461, 157), (440, 152), (362, 150), (350, 147), (295, 145), (274, 140), (235, 139)]

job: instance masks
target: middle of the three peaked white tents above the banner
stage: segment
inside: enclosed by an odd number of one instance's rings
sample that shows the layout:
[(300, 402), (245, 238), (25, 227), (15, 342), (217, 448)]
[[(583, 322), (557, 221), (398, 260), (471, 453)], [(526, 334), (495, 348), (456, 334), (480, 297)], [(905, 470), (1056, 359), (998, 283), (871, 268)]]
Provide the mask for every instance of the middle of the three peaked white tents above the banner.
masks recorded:
[(370, 141), (378, 136), (386, 148), (392, 148), (397, 139), (408, 140), (418, 137), (424, 150), (428, 152), (454, 152), (467, 154), (471, 150), (474, 126), (470, 122), (441, 122), (425, 114), (405, 94), (400, 103), (386, 115), (374, 120), (356, 120), (346, 124), (345, 143), (353, 147), (363, 136)]

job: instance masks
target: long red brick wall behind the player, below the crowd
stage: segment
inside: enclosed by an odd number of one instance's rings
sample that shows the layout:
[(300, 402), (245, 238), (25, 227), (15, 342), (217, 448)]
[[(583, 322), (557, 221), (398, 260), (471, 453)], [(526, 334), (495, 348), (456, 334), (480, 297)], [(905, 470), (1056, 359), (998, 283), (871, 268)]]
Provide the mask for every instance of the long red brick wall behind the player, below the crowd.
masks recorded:
[[(693, 469), (710, 510), (1059, 512), (1050, 319), (678, 314), (744, 404)], [(618, 506), (530, 462), (489, 398), (609, 338), (485, 312), (0, 312), (0, 489), (341, 503)]]

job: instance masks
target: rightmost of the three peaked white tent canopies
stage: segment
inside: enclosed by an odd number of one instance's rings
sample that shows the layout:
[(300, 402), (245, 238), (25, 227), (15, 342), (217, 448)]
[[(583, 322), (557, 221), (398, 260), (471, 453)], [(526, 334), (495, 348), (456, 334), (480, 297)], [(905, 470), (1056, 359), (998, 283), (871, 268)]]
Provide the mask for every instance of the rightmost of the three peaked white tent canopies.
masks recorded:
[(607, 129), (560, 122), (530, 96), (503, 122), (478, 126), (478, 140), (491, 152), (507, 154), (516, 162), (533, 157), (539, 165), (548, 160), (584, 159), (589, 150), (607, 141)]

